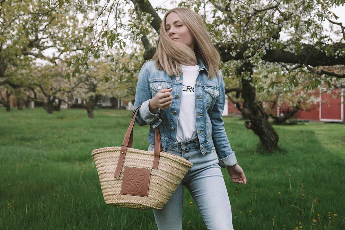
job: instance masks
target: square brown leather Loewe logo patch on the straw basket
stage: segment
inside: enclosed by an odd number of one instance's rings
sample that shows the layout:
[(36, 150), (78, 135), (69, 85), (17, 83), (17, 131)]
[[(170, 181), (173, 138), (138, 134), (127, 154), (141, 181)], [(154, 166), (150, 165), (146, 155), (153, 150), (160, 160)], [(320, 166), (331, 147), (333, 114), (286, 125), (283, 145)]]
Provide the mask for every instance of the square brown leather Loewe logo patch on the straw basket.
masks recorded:
[(151, 169), (125, 166), (121, 194), (147, 197)]

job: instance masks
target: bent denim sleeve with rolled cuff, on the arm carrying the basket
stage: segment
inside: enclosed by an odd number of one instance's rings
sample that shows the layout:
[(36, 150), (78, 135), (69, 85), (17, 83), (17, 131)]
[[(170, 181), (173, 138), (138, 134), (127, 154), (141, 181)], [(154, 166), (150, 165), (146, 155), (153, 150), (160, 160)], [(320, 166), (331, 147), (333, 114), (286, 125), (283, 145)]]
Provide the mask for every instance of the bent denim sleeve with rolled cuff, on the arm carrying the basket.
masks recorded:
[(137, 89), (135, 92), (134, 99), (134, 110), (132, 111), (132, 116), (134, 115), (136, 108), (141, 105), (137, 113), (135, 122), (139, 126), (145, 126), (146, 124), (150, 124), (152, 128), (156, 128), (162, 120), (159, 118), (160, 109), (158, 109), (158, 112), (155, 114), (151, 113), (149, 110), (149, 102), (152, 96), (150, 92), (148, 74), (148, 63), (145, 62), (144, 65), (141, 67), (138, 76)]

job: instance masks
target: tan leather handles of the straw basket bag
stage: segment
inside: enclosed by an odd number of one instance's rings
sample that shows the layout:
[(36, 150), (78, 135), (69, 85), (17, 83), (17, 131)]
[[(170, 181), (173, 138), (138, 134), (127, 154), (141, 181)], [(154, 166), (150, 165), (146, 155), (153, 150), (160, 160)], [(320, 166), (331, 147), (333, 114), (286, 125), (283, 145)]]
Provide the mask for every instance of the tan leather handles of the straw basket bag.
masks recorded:
[[(132, 148), (132, 144), (133, 144), (133, 127), (134, 127), (135, 119), (137, 117), (137, 113), (139, 111), (139, 107), (140, 106), (138, 106), (136, 108), (135, 113), (134, 113), (134, 115), (132, 117), (132, 120), (131, 120), (131, 122), (129, 124), (129, 127), (127, 129), (124, 142), (122, 142), (122, 145), (121, 145), (122, 147), (121, 147), (121, 151), (120, 151), (120, 157), (119, 157), (119, 160), (117, 162), (117, 166), (116, 166), (116, 170), (115, 170), (115, 174), (114, 174), (115, 178), (119, 178), (120, 177), (120, 173), (121, 173), (121, 170), (122, 170), (122, 166), (124, 164), (127, 148), (128, 147)], [(161, 152), (161, 151), (162, 151), (162, 143), (160, 141), (160, 132), (159, 132), (159, 128), (157, 126), (155, 128), (155, 150), (154, 150), (154, 160), (153, 160), (152, 169), (158, 169), (159, 152)]]

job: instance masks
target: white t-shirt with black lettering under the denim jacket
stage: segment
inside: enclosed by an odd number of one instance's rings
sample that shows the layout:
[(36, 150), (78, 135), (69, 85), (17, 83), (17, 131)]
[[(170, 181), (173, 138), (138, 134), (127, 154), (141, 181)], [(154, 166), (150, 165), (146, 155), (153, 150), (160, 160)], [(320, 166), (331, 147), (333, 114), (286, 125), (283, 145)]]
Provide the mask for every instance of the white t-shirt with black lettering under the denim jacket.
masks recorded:
[(181, 65), (183, 72), (183, 89), (180, 114), (177, 121), (176, 141), (183, 143), (198, 137), (195, 119), (195, 80), (198, 77), (199, 65)]

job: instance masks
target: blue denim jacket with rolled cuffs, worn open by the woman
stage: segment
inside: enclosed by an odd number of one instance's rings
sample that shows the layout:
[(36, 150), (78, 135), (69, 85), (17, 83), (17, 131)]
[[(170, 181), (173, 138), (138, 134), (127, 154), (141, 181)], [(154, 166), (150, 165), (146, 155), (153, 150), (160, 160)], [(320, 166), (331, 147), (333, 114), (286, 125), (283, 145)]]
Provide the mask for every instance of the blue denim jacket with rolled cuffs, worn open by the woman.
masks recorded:
[[(224, 120), (221, 114), (225, 104), (224, 79), (220, 77), (207, 79), (208, 69), (200, 58), (198, 76), (195, 81), (195, 118), (200, 151), (204, 155), (209, 151), (216, 151), (219, 157), (219, 166), (225, 168), (237, 163), (235, 153), (230, 147), (224, 129)], [(155, 144), (155, 128), (159, 126), (162, 148), (177, 151), (176, 129), (179, 116), (183, 76), (174, 78), (164, 70), (158, 70), (155, 61), (147, 61), (141, 67), (138, 76), (137, 89), (134, 101), (135, 109), (141, 105), (135, 122), (139, 126), (149, 124), (150, 129), (147, 141)], [(170, 108), (159, 109), (156, 114), (149, 110), (149, 101), (160, 89), (172, 88)]]

